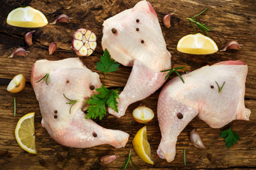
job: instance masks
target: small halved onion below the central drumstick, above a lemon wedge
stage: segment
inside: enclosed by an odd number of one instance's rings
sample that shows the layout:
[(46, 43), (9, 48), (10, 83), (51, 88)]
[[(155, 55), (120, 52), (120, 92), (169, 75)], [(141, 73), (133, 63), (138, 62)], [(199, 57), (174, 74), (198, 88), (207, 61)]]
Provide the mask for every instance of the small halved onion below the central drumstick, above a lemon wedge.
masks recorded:
[(138, 123), (148, 123), (154, 118), (154, 111), (146, 106), (139, 106), (134, 109), (132, 116)]

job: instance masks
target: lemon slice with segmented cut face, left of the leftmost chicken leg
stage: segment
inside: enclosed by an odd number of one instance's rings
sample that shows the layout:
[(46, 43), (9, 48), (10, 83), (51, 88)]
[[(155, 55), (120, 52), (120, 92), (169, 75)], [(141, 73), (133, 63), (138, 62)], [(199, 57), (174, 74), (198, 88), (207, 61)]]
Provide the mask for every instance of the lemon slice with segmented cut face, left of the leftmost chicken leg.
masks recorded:
[(26, 152), (36, 154), (36, 137), (34, 128), (35, 113), (28, 113), (18, 120), (15, 129), (15, 137), (18, 145)]

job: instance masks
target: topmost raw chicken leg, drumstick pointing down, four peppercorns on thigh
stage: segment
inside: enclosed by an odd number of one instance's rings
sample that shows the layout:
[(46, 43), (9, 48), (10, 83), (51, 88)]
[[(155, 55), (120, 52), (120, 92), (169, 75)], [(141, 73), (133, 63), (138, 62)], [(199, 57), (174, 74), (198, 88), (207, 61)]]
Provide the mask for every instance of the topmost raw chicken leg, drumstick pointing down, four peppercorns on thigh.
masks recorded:
[(103, 23), (102, 48), (132, 72), (124, 90), (119, 95), (118, 113), (109, 108), (109, 113), (120, 118), (127, 107), (153, 94), (164, 84), (166, 72), (171, 68), (171, 54), (161, 32), (156, 12), (147, 1), (139, 1)]

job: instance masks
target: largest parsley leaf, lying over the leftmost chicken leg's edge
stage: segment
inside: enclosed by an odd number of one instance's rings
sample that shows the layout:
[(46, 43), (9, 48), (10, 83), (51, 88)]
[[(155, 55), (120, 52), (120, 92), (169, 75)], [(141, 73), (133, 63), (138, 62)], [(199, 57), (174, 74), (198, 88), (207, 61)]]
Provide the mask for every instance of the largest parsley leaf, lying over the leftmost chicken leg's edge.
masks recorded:
[(90, 104), (90, 106), (87, 108), (87, 115), (85, 118), (95, 119), (100, 117), (100, 120), (102, 120), (102, 118), (106, 115), (106, 104), (108, 107), (118, 112), (118, 102), (116, 100), (116, 98), (119, 98), (118, 89), (112, 91), (102, 85), (101, 88), (95, 90), (100, 94), (95, 94), (86, 101), (86, 103)]

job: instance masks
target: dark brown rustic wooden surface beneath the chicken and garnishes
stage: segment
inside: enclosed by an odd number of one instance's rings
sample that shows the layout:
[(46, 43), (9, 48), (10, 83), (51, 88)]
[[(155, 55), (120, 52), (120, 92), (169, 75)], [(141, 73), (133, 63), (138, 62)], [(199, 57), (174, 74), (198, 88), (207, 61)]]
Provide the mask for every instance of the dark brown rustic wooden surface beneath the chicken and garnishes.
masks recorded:
[[(41, 113), (36, 101), (36, 96), (30, 84), (31, 66), (36, 60), (61, 60), (68, 57), (78, 57), (73, 50), (70, 50), (72, 35), (78, 28), (89, 28), (97, 35), (97, 49), (91, 57), (81, 57), (89, 69), (98, 72), (95, 64), (100, 60), (102, 47), (102, 23), (105, 19), (127, 8), (132, 8), (138, 0), (28, 0), (28, 1), (1, 1), (0, 6), (0, 78), (7, 79), (8, 82), (16, 74), (23, 74), (26, 77), (26, 87), (18, 94), (10, 94), (6, 91), (6, 84), (0, 85), (0, 169), (63, 169), (62, 166), (68, 159), (70, 151), (70, 161), (64, 169), (119, 169), (127, 157), (129, 149), (132, 149), (132, 159), (141, 169), (256, 169), (256, 6), (254, 0), (195, 0), (195, 1), (158, 1), (149, 0), (159, 17), (159, 22), (166, 40), (167, 49), (172, 55), (173, 67), (186, 66), (188, 71), (193, 71), (206, 64), (214, 64), (223, 60), (242, 60), (248, 64), (249, 72), (246, 81), (245, 106), (250, 108), (252, 114), (250, 121), (235, 120), (221, 129), (212, 129), (202, 120), (195, 118), (181, 132), (176, 145), (176, 158), (174, 162), (167, 163), (156, 155), (156, 149), (161, 139), (161, 132), (157, 122), (157, 117), (147, 123), (147, 133), (151, 145), (152, 159), (154, 165), (144, 163), (132, 148), (132, 139), (137, 130), (144, 125), (136, 123), (132, 119), (132, 111), (140, 103), (153, 109), (156, 113), (156, 103), (159, 91), (149, 96), (149, 98), (139, 101), (129, 106), (124, 117), (117, 119), (112, 115), (107, 115), (102, 121), (97, 123), (105, 128), (113, 128), (128, 132), (129, 142), (122, 149), (114, 149), (110, 145), (101, 145), (87, 149), (73, 149), (63, 147), (53, 141), (46, 130), (41, 126)], [(66, 13), (73, 18), (70, 23), (58, 23), (53, 26), (36, 28), (33, 34), (33, 45), (28, 46), (23, 40), (23, 35), (28, 28), (16, 28), (6, 24), (8, 13), (20, 6), (32, 6), (42, 11), (49, 22)], [(193, 33), (191, 24), (186, 20), (203, 11), (208, 7), (206, 14), (198, 17), (200, 21), (208, 26), (215, 27), (210, 32), (221, 49), (230, 40), (238, 40), (243, 45), (240, 51), (217, 52), (214, 55), (185, 55), (177, 52), (176, 44), (178, 40)], [(171, 18), (171, 28), (165, 28), (162, 18), (166, 13), (171, 13), (176, 9), (176, 15)], [(179, 21), (182, 21), (181, 24)], [(199, 31), (199, 30), (198, 30)], [(48, 45), (52, 41), (57, 41), (58, 50), (53, 55), (48, 55)], [(27, 57), (7, 57), (16, 47), (26, 47), (30, 53)], [(129, 77), (132, 68), (119, 68), (118, 72), (113, 72), (103, 79), (102, 84), (108, 87), (123, 87)], [(174, 77), (172, 75), (169, 79)], [(14, 118), (14, 96), (17, 101), (17, 115)], [(36, 112), (36, 148), (37, 155), (28, 154), (21, 149), (14, 137), (16, 123), (21, 116), (26, 113)], [(129, 125), (129, 121), (132, 124)], [(240, 135), (240, 141), (236, 145), (227, 149), (225, 142), (220, 138), (220, 131), (229, 126)], [(189, 132), (197, 128), (201, 138), (206, 145), (206, 149), (197, 149), (189, 141)], [(183, 149), (186, 149), (186, 164), (183, 164)], [(105, 154), (117, 154), (119, 158), (108, 165), (100, 164), (100, 157)]]

